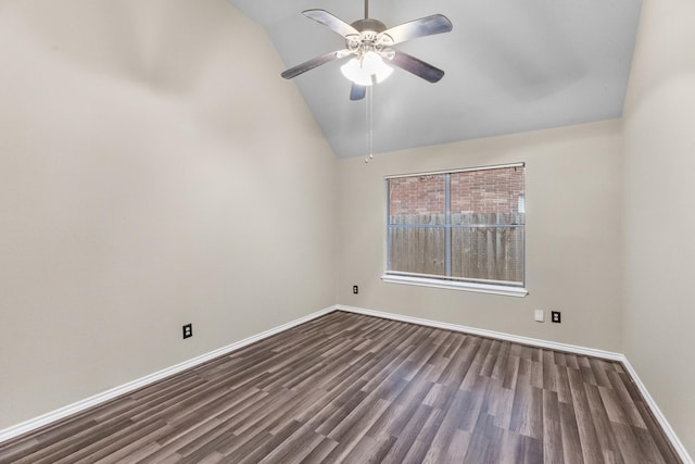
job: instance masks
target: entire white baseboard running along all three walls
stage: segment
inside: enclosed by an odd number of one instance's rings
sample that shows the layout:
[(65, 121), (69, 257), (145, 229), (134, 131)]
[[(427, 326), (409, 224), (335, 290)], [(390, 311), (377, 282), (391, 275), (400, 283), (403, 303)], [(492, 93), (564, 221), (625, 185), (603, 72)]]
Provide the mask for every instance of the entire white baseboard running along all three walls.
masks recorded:
[(680, 457), (683, 460), (683, 462), (685, 464), (694, 464), (693, 460), (691, 459), (691, 456), (688, 455), (687, 451), (685, 450), (685, 447), (683, 447), (683, 443), (681, 442), (681, 440), (678, 438), (678, 436), (675, 435), (675, 432), (673, 431), (673, 429), (671, 428), (670, 424), (668, 423), (668, 421), (666, 419), (666, 417), (664, 416), (664, 414), (661, 413), (661, 411), (659, 410), (659, 407), (657, 406), (656, 402), (654, 401), (654, 399), (652, 398), (652, 396), (649, 394), (649, 392), (647, 391), (646, 386), (642, 383), (642, 380), (640, 379), (640, 377), (637, 376), (637, 373), (634, 371), (634, 368), (632, 367), (632, 365), (630, 364), (630, 362), (628, 361), (628, 359), (624, 356), (624, 354), (621, 353), (614, 353), (610, 351), (604, 351), (604, 350), (596, 350), (593, 348), (586, 348), (586, 347), (578, 347), (574, 344), (567, 344), (567, 343), (558, 343), (558, 342), (554, 342), (554, 341), (547, 341), (547, 340), (541, 340), (541, 339), (536, 339), (536, 338), (529, 338), (529, 337), (520, 337), (517, 335), (511, 335), (511, 334), (505, 334), (505, 333), (498, 333), (498, 331), (493, 331), (493, 330), (485, 330), (485, 329), (480, 329), (480, 328), (475, 328), (475, 327), (467, 327), (467, 326), (462, 326), (462, 325), (457, 325), (457, 324), (450, 324), (450, 323), (443, 323), (443, 322), (438, 322), (438, 321), (431, 321), (431, 319), (424, 319), (424, 318), (419, 318), (419, 317), (412, 317), (412, 316), (404, 316), (401, 314), (393, 314), (393, 313), (386, 313), (382, 311), (374, 311), (374, 310), (366, 310), (363, 308), (355, 308), (355, 306), (346, 306), (346, 305), (334, 305), (334, 306), (330, 306), (330, 308), (326, 308), (325, 310), (321, 311), (317, 311), (315, 313), (312, 313), (309, 315), (306, 315), (304, 317), (300, 317), (298, 319), (291, 321), (287, 324), (282, 324), (280, 326), (274, 327), (269, 330), (266, 330), (264, 333), (254, 335), (252, 337), (245, 338), (243, 340), (237, 341), (235, 343), (228, 344), (226, 347), (223, 347), (220, 349), (211, 351), (208, 353), (202, 354), (200, 356), (193, 358), (189, 361), (185, 361), (182, 363), (176, 364), (174, 366), (167, 367), (165, 369), (155, 372), (154, 374), (150, 374), (148, 376), (141, 377), (139, 379), (129, 381), (125, 385), (122, 385), (119, 387), (115, 387), (112, 388), (110, 390), (106, 390), (104, 392), (101, 392), (99, 394), (94, 394), (93, 397), (87, 398), (86, 400), (81, 400), (78, 401), (76, 403), (73, 404), (68, 404), (64, 407), (58, 409), (55, 411), (52, 411), (50, 413), (43, 414), (39, 417), (35, 417), (33, 419), (26, 421), (24, 423), (17, 424), (15, 426), (5, 428), (3, 430), (0, 430), (0, 443), (5, 441), (5, 440), (10, 440), (11, 438), (14, 437), (18, 437), (20, 435), (26, 434), (28, 431), (35, 430), (39, 427), (42, 427), (45, 425), (51, 424), (53, 422), (60, 421), (64, 417), (67, 417), (70, 415), (76, 414), (78, 412), (85, 411), (88, 407), (92, 407), (96, 406), (98, 404), (101, 404), (105, 401), (112, 400), (116, 397), (119, 397), (122, 394), (125, 393), (129, 393), (134, 390), (137, 390), (138, 388), (142, 388), (146, 387), (150, 384), (153, 384), (157, 380), (161, 380), (165, 377), (172, 376), (174, 374), (180, 373), (182, 371), (186, 371), (188, 368), (194, 367), (197, 365), (200, 365), (202, 363), (205, 363), (207, 361), (211, 361), (215, 358), (228, 354), (235, 350), (239, 350), (240, 348), (243, 348), (248, 344), (254, 343), (256, 341), (263, 340), (264, 338), (270, 337), (273, 335), (279, 334), (283, 330), (290, 329), (292, 327), (295, 327), (300, 324), (304, 324), (305, 322), (315, 319), (317, 317), (324, 316), (328, 313), (331, 313), (333, 311), (345, 311), (345, 312), (350, 312), (350, 313), (356, 313), (356, 314), (364, 314), (364, 315), (368, 315), (368, 316), (376, 316), (376, 317), (382, 317), (382, 318), (388, 318), (388, 319), (392, 319), (392, 321), (400, 321), (400, 322), (405, 322), (405, 323), (412, 323), (412, 324), (419, 324), (419, 325), (424, 325), (424, 326), (428, 326), (428, 327), (437, 327), (437, 328), (442, 328), (442, 329), (446, 329), (446, 330), (455, 330), (455, 331), (462, 331), (462, 333), (466, 333), (466, 334), (472, 334), (472, 335), (479, 335), (481, 337), (489, 337), (489, 338), (495, 338), (495, 339), (500, 339), (500, 340), (505, 340), (505, 341), (511, 341), (515, 343), (522, 343), (522, 344), (530, 344), (533, 347), (540, 347), (540, 348), (547, 348), (551, 350), (558, 350), (558, 351), (566, 351), (568, 353), (574, 353), (574, 354), (582, 354), (582, 355), (587, 355), (587, 356), (595, 356), (595, 358), (603, 358), (606, 360), (611, 360), (611, 361), (618, 361), (620, 363), (622, 363), (622, 365), (626, 367), (626, 369), (628, 371), (628, 373), (630, 374), (630, 376), (632, 377), (633, 381), (635, 383), (635, 386), (637, 387), (637, 389), (640, 390), (640, 393), (642, 393), (642, 397), (644, 398), (644, 400), (646, 401), (648, 407), (652, 410), (652, 413), (654, 414), (655, 418), (657, 419), (657, 422), (659, 423), (659, 425), (661, 426), (661, 428), (664, 429), (665, 434), (667, 435), (668, 439), (671, 441), (671, 444), (673, 446), (673, 448), (675, 449), (675, 451), (679, 453)]

